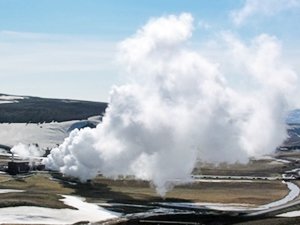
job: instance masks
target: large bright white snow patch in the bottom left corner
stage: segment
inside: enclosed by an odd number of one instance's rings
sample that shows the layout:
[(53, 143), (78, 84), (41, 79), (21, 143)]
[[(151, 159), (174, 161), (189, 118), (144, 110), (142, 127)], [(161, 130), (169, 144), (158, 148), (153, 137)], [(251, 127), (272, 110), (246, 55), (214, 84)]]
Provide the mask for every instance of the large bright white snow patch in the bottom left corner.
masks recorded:
[(63, 195), (62, 201), (74, 209), (51, 209), (44, 207), (19, 206), (0, 209), (1, 224), (73, 224), (80, 221), (99, 222), (114, 219), (119, 214), (110, 212), (95, 204), (84, 202), (83, 198)]

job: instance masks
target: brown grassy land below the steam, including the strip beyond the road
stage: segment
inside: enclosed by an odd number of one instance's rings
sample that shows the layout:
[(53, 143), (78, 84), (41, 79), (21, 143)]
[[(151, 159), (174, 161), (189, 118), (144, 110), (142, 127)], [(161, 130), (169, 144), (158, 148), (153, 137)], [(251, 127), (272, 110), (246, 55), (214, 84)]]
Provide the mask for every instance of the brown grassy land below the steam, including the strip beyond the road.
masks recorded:
[[(0, 162), (5, 164), (7, 156)], [(290, 164), (272, 160), (254, 160), (246, 165), (220, 164), (201, 165), (197, 173), (211, 175), (255, 175), (280, 176), (281, 171), (291, 167)], [(288, 188), (279, 180), (253, 180), (233, 182), (193, 182), (179, 185), (166, 196), (159, 196), (153, 185), (147, 181), (133, 179), (108, 179), (98, 176), (88, 183), (77, 183), (75, 179), (63, 177), (59, 173), (42, 172), (29, 176), (12, 177), (0, 174), (0, 189), (19, 189), (24, 192), (1, 194), (0, 207), (8, 206), (42, 206), (64, 208), (59, 199), (62, 194), (85, 197), (94, 203), (133, 203), (149, 205), (153, 202), (209, 202), (241, 203), (253, 206), (267, 204), (283, 198)], [(300, 184), (300, 182), (298, 183)]]

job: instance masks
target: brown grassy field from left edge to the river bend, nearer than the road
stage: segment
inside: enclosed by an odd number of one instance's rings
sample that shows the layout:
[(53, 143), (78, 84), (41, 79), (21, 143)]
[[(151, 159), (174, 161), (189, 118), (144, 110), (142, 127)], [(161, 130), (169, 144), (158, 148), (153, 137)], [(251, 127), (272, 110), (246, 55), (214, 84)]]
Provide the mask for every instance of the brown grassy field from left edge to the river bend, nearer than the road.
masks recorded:
[[(0, 176), (0, 181), (2, 179)], [(62, 178), (57, 177), (56, 178)], [(197, 182), (175, 187), (166, 196), (159, 196), (151, 184), (136, 180), (111, 180), (97, 177), (85, 184), (71, 185), (68, 180), (53, 179), (51, 174), (34, 174), (8, 179), (3, 176), (1, 189), (20, 189), (25, 192), (1, 194), (0, 207), (34, 205), (52, 208), (65, 207), (61, 194), (85, 197), (89, 202), (122, 202), (147, 204), (151, 202), (215, 202), (266, 204), (283, 198), (288, 189), (280, 181)], [(262, 191), (263, 190), (263, 191)]]

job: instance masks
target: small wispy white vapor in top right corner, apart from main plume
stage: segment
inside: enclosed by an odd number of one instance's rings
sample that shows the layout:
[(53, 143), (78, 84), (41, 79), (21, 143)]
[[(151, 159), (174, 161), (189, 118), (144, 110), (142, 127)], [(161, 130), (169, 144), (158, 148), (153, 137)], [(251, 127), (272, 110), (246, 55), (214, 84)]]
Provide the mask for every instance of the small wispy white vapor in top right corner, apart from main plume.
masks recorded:
[(254, 15), (270, 16), (299, 6), (299, 0), (246, 0), (241, 9), (231, 12), (231, 18), (235, 25), (242, 25)]

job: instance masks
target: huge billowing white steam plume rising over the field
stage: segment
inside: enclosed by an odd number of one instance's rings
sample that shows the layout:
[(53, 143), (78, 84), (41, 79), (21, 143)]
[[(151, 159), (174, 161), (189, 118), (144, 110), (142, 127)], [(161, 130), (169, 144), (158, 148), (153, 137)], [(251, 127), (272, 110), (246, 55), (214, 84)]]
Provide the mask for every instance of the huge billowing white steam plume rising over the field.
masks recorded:
[[(198, 160), (247, 162), (274, 151), (286, 137), (297, 79), (281, 62), (278, 40), (261, 35), (247, 47), (224, 34), (228, 58), (216, 64), (186, 46), (192, 31), (190, 14), (171, 15), (120, 43), (131, 81), (112, 89), (103, 122), (73, 131), (46, 166), (82, 181), (99, 172), (134, 175), (163, 195), (175, 180), (188, 180)], [(228, 85), (224, 64), (249, 90)]]

